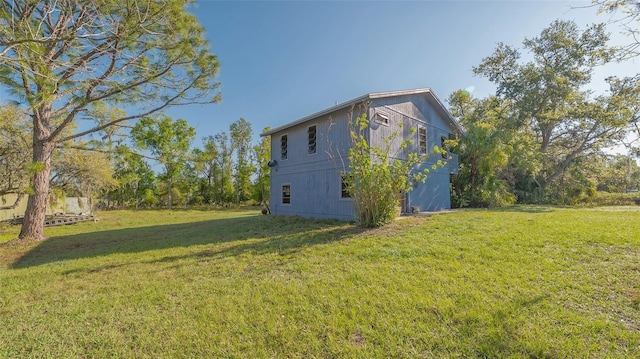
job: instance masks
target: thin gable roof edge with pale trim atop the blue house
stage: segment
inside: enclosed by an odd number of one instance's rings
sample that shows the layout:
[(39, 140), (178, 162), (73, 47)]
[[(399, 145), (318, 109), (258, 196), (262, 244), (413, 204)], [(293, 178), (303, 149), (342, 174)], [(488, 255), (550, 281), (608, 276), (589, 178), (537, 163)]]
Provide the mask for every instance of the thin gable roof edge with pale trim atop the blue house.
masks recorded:
[(421, 89), (413, 89), (413, 90), (401, 90), (401, 91), (389, 91), (389, 92), (374, 92), (374, 93), (368, 93), (366, 95), (360, 96), (360, 97), (356, 97), (352, 100), (349, 100), (347, 102), (343, 102), (340, 104), (337, 104), (335, 106), (326, 108), (322, 111), (313, 113), (311, 115), (305, 116), (303, 118), (300, 118), (298, 120), (295, 120), (293, 122), (289, 122), (287, 124), (284, 124), (282, 126), (278, 126), (276, 128), (272, 128), (269, 131), (263, 132), (260, 134), (260, 136), (270, 136), (276, 132), (280, 132), (282, 130), (286, 130), (290, 127), (305, 123), (307, 121), (311, 121), (315, 118), (327, 115), (329, 113), (338, 111), (338, 110), (342, 110), (344, 108), (347, 107), (351, 107), (355, 104), (358, 104), (362, 101), (366, 101), (366, 100), (374, 100), (374, 99), (378, 99), (378, 98), (388, 98), (388, 97), (397, 97), (397, 96), (405, 96), (405, 95), (416, 95), (416, 94), (425, 94), (427, 96), (427, 99), (430, 100), (429, 102), (433, 105), (434, 109), (436, 110), (436, 112), (438, 112), (438, 114), (440, 116), (442, 116), (442, 118), (444, 118), (445, 120), (448, 120), (453, 127), (456, 129), (456, 131), (458, 131), (460, 134), (464, 133), (464, 130), (462, 129), (462, 127), (460, 127), (460, 125), (455, 121), (455, 119), (451, 116), (451, 114), (449, 113), (449, 111), (447, 111), (447, 109), (444, 107), (444, 105), (442, 104), (442, 102), (440, 101), (440, 99), (433, 93), (433, 91), (431, 91), (430, 88), (421, 88)]

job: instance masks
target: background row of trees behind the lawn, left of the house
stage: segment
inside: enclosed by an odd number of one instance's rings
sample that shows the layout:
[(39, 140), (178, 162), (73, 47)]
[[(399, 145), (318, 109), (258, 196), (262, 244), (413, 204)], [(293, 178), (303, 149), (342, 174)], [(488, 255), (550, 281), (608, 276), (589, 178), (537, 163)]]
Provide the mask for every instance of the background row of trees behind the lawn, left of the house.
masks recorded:
[[(88, 116), (100, 122), (119, 111), (101, 104)], [(14, 106), (0, 108), (0, 195), (29, 192), (30, 174), (39, 170), (30, 161), (30, 136), (28, 118)], [(242, 118), (196, 146), (185, 120), (146, 117), (59, 146), (49, 201), (84, 196), (100, 209), (264, 205), (269, 153), (270, 138), (253, 143)]]

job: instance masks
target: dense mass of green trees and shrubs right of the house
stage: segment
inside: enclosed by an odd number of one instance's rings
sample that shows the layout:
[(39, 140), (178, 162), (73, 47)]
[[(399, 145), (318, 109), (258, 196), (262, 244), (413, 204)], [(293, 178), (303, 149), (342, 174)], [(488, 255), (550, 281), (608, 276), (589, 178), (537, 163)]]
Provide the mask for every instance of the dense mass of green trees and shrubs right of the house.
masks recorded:
[(611, 77), (607, 94), (586, 91), (595, 67), (614, 58), (607, 40), (604, 25), (580, 30), (554, 21), (524, 40), (529, 61), (500, 43), (474, 68), (497, 92), (485, 100), (452, 96), (469, 132), (460, 147), (467, 166), (458, 176), (460, 204), (571, 204), (593, 195), (587, 159), (624, 139), (640, 118), (637, 79)]

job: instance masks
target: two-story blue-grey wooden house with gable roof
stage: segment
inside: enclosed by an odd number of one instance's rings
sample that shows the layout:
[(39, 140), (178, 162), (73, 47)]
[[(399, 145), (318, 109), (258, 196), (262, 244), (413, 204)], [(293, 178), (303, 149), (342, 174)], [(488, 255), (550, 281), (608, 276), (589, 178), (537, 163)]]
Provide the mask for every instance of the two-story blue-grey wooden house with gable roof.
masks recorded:
[[(427, 155), (415, 170), (429, 168), (425, 183), (401, 195), (402, 212), (451, 208), (450, 175), (457, 173), (454, 154), (434, 154), (462, 129), (428, 88), (371, 93), (327, 108), (262, 134), (271, 136), (271, 213), (311, 218), (351, 220), (354, 208), (343, 178), (349, 172), (349, 123), (366, 112), (370, 120), (365, 137), (372, 146), (397, 132), (392, 156), (406, 158), (411, 151)], [(405, 139), (412, 143), (402, 149)], [(431, 165), (446, 157), (436, 170)]]

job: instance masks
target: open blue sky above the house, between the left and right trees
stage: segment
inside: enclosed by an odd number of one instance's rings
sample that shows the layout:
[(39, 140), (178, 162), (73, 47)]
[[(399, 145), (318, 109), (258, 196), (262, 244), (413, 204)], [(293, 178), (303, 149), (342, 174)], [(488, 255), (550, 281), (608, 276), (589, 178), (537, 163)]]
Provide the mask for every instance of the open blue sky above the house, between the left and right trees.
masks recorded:
[[(442, 101), (457, 89), (494, 91), (472, 67), (498, 42), (520, 46), (555, 19), (582, 28), (606, 22), (588, 1), (197, 1), (192, 11), (221, 64), (222, 102), (172, 109), (202, 137), (243, 117), (254, 137), (370, 92), (430, 87)], [(614, 42), (624, 38), (609, 31)], [(638, 60), (598, 70), (631, 75)]]

